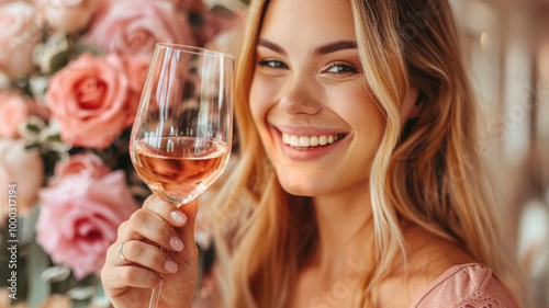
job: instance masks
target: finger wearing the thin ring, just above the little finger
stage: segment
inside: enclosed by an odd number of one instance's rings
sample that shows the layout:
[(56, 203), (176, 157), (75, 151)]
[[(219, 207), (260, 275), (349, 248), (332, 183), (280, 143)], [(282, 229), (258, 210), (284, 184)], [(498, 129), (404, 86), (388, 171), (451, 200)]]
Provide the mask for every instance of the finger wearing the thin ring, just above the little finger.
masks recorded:
[(138, 264), (158, 273), (177, 273), (178, 265), (158, 247), (142, 241), (126, 241), (119, 247), (117, 262), (123, 265)]

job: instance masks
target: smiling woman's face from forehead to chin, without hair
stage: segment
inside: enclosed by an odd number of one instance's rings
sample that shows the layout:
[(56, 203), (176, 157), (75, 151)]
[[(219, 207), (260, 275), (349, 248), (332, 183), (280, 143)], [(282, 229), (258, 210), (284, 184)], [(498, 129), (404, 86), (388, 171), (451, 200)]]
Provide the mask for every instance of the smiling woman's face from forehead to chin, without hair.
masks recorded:
[(348, 0), (272, 0), (250, 110), (282, 187), (341, 193), (367, 183), (384, 119), (360, 68)]

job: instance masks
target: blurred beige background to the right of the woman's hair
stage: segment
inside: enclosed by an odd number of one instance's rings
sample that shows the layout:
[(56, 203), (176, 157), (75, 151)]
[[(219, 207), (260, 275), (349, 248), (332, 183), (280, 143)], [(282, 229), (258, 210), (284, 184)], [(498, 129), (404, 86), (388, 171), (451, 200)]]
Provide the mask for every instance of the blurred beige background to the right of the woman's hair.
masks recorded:
[(451, 0), (504, 226), (549, 307), (549, 1)]

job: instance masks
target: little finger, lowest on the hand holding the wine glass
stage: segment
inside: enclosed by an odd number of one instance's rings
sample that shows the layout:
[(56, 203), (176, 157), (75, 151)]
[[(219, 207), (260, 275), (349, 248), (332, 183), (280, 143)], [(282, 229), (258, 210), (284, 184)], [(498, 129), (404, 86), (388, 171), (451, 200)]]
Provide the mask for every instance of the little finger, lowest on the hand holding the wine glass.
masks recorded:
[(155, 271), (131, 265), (103, 267), (101, 281), (104, 282), (105, 288), (121, 292), (130, 287), (156, 288), (164, 284), (164, 280)]

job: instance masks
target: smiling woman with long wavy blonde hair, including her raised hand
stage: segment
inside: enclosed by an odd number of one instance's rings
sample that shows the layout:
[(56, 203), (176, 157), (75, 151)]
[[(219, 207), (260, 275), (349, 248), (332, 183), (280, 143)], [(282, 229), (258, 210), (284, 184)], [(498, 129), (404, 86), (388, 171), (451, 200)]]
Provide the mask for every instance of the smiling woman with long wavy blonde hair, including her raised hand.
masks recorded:
[[(447, 1), (259, 0), (248, 14), (211, 307), (520, 307)], [(114, 306), (160, 284), (163, 307), (191, 306), (195, 212), (150, 197), (120, 227), (102, 272)]]

